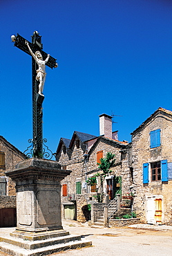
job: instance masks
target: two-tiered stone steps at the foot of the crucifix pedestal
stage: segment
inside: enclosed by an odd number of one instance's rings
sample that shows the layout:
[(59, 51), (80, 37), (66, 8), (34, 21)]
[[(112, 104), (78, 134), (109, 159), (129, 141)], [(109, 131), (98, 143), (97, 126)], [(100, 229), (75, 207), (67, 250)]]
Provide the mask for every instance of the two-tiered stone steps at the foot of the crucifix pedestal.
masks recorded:
[(91, 241), (81, 239), (80, 235), (64, 235), (37, 241), (10, 237), (10, 234), (0, 237), (0, 250), (14, 256), (43, 256), (63, 250), (91, 246), (91, 244)]

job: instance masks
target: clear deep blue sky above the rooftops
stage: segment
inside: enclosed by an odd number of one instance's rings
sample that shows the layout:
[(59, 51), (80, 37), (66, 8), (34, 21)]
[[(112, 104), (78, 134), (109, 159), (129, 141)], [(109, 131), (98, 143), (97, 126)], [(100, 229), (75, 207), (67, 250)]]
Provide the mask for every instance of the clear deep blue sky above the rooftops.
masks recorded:
[(44, 138), (55, 152), (73, 131), (99, 135), (112, 113), (119, 139), (158, 107), (172, 110), (171, 0), (0, 0), (0, 135), (32, 138), (31, 57), (10, 36), (34, 30), (59, 67), (46, 68)]

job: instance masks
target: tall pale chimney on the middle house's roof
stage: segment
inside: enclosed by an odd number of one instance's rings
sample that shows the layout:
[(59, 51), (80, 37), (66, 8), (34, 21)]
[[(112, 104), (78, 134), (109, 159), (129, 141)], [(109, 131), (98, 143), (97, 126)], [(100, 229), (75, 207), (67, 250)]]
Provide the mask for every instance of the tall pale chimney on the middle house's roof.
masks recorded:
[(99, 136), (112, 138), (112, 116), (102, 113), (99, 115)]

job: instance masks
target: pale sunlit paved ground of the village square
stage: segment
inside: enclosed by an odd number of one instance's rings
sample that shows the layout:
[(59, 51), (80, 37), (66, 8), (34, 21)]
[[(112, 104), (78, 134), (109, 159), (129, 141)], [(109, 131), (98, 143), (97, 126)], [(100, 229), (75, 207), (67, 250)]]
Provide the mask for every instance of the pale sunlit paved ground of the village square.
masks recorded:
[[(131, 228), (90, 228), (87, 223), (77, 221), (63, 221), (64, 230), (73, 235), (82, 235), (93, 242), (93, 246), (53, 256), (171, 256), (172, 255), (172, 227), (133, 225)], [(4, 229), (0, 229), (1, 230)], [(9, 256), (1, 253), (1, 256)], [(51, 256), (52, 256), (51, 255)], [(50, 255), (48, 255), (50, 256)]]

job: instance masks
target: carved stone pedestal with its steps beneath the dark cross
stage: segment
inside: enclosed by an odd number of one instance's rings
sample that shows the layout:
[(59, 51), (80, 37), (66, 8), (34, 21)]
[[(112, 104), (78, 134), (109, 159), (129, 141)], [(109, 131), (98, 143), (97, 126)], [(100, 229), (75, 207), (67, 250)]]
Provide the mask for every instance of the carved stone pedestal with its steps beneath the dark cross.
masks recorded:
[(12, 255), (18, 255), (17, 246), (20, 253), (23, 250), (20, 255), (46, 255), (71, 248), (71, 242), (72, 248), (91, 244), (81, 241), (80, 236), (69, 235), (61, 226), (60, 181), (70, 172), (61, 170), (56, 161), (37, 158), (22, 161), (15, 170), (6, 172), (16, 182), (17, 228), (10, 233), (11, 238), (0, 237), (6, 243), (4, 246), (0, 242), (1, 250), (8, 252), (10, 244)]

